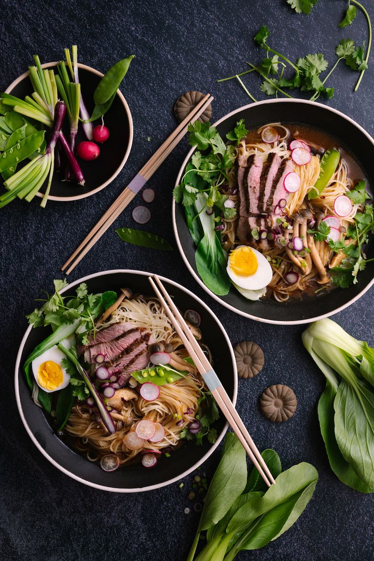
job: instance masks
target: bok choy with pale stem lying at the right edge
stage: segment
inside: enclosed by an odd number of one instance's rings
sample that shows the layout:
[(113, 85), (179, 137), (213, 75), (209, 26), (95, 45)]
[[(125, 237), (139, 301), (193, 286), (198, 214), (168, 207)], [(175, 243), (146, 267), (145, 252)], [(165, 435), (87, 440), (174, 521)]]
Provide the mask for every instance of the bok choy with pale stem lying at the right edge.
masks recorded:
[(323, 319), (302, 335), (326, 377), (318, 418), (331, 469), (345, 484), (374, 492), (374, 349)]

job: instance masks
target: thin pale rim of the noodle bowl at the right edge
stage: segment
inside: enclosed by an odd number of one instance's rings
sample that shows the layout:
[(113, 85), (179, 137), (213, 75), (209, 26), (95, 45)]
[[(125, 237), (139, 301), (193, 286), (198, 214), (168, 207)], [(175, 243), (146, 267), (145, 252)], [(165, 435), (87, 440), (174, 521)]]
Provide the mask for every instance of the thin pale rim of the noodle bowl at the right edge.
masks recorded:
[[(340, 117), (343, 117), (346, 121), (348, 121), (349, 123), (352, 123), (352, 125), (354, 125), (356, 128), (358, 128), (358, 130), (361, 131), (364, 134), (364, 136), (367, 137), (368, 140), (370, 140), (370, 142), (371, 142), (371, 144), (373, 145), (373, 148), (374, 148), (374, 139), (370, 136), (370, 134), (368, 134), (368, 132), (366, 132), (366, 130), (361, 125), (358, 125), (358, 123), (353, 121), (353, 119), (351, 119), (350, 117), (348, 117), (344, 113), (341, 113), (341, 111), (338, 111), (338, 109), (334, 109), (333, 107), (328, 107), (327, 105), (324, 105), (323, 103), (311, 102), (307, 99), (298, 99), (298, 98), (294, 98), (294, 99), (265, 99), (262, 102), (249, 103), (248, 105), (243, 105), (243, 107), (239, 107), (238, 109), (235, 109), (234, 111), (232, 111), (230, 113), (227, 113), (224, 117), (221, 117), (220, 119), (218, 119), (218, 121), (216, 121), (214, 123), (214, 126), (219, 125), (219, 123), (221, 123), (222, 121), (225, 121), (225, 119), (227, 119), (228, 117), (231, 117), (232, 115), (235, 115), (236, 113), (240, 113), (241, 111), (244, 111), (244, 109), (248, 109), (250, 107), (257, 107), (257, 105), (265, 105), (267, 103), (295, 103), (295, 102), (305, 103), (307, 105), (317, 105), (317, 107), (322, 107), (324, 109), (327, 109), (327, 111), (331, 111), (331, 113), (336, 113)], [(191, 148), (191, 150), (188, 152), (186, 158), (184, 158), (181, 169), (179, 170), (179, 173), (178, 173), (176, 185), (178, 185), (179, 181), (181, 180), (183, 170), (186, 167), (186, 165), (188, 163), (188, 160), (190, 160), (190, 158), (191, 158), (191, 156), (192, 156), (192, 154), (195, 150), (196, 150), (196, 147)], [(352, 298), (352, 300), (349, 300), (348, 302), (343, 304), (343, 306), (340, 306), (339, 308), (336, 308), (335, 310), (333, 310), (331, 312), (327, 312), (326, 314), (321, 314), (321, 315), (315, 316), (315, 318), (292, 320), (292, 321), (287, 321), (287, 320), (278, 321), (278, 320), (270, 320), (270, 319), (265, 319), (265, 318), (258, 318), (257, 316), (254, 316), (252, 314), (247, 314), (247, 312), (244, 312), (242, 310), (238, 310), (236, 307), (232, 306), (231, 304), (228, 304), (228, 302), (224, 302), (223, 300), (221, 300), (221, 298), (219, 296), (214, 294), (214, 292), (211, 292), (211, 290), (205, 286), (204, 282), (202, 282), (202, 280), (198, 276), (198, 274), (195, 273), (195, 271), (193, 270), (192, 266), (190, 265), (186, 255), (184, 254), (182, 243), (181, 243), (181, 240), (179, 239), (179, 234), (178, 234), (178, 228), (177, 228), (177, 222), (176, 222), (176, 201), (174, 199), (172, 201), (172, 217), (173, 217), (174, 236), (176, 237), (179, 253), (181, 254), (182, 259), (184, 261), (184, 264), (187, 266), (187, 269), (190, 271), (193, 278), (195, 278), (195, 280), (197, 280), (198, 284), (200, 284), (200, 286), (202, 288), (204, 288), (205, 292), (207, 292), (212, 298), (214, 298), (214, 300), (219, 302), (219, 304), (221, 304), (222, 306), (225, 306), (226, 308), (235, 312), (236, 314), (244, 316), (244, 318), (253, 319), (255, 321), (261, 321), (261, 323), (269, 323), (269, 324), (273, 324), (273, 325), (301, 325), (301, 324), (304, 324), (304, 323), (311, 323), (312, 321), (317, 321), (318, 319), (329, 318), (329, 316), (334, 315), (334, 314), (338, 314), (338, 312), (340, 312), (342, 310), (345, 310), (345, 308), (347, 308), (348, 306), (353, 304), (356, 300), (358, 300), (358, 298), (361, 298), (361, 296), (363, 296), (364, 293), (367, 292), (368, 289), (371, 288), (372, 285), (374, 284), (374, 278), (373, 278), (370, 281), (370, 283), (368, 283), (366, 285), (366, 287), (364, 287), (362, 289), (362, 291), (358, 293), (357, 296)]]

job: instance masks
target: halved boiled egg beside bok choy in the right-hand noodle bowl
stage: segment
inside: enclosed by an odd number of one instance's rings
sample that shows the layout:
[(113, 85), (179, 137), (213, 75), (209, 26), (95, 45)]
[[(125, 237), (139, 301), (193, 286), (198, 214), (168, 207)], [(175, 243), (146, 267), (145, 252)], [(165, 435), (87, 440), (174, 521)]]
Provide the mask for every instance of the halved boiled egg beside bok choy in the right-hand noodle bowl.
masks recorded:
[(237, 286), (256, 291), (265, 288), (273, 277), (266, 257), (249, 246), (238, 246), (230, 252), (227, 273)]

